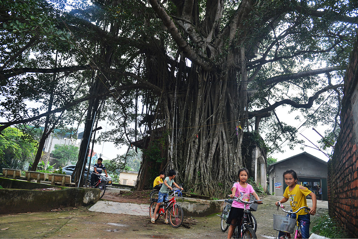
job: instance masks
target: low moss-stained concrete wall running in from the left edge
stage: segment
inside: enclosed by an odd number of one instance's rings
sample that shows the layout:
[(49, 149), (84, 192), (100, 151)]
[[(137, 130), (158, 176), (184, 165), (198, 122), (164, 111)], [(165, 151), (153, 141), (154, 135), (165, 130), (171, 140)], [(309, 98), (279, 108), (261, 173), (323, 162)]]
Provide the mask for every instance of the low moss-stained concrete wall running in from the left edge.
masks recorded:
[[(0, 177), (0, 214), (47, 211), (59, 207), (95, 204), (100, 197), (97, 188), (74, 188), (26, 182)], [(33, 191), (36, 188), (59, 188), (53, 191)]]

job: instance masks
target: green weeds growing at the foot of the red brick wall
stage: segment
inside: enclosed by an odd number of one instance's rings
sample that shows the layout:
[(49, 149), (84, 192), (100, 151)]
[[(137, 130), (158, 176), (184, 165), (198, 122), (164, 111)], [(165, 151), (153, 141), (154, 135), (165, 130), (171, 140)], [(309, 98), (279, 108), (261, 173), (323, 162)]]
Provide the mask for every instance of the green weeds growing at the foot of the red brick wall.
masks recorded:
[(313, 226), (311, 233), (328, 238), (349, 238), (345, 233), (345, 228), (328, 214), (321, 214), (319, 217), (315, 217), (311, 223), (316, 224)]

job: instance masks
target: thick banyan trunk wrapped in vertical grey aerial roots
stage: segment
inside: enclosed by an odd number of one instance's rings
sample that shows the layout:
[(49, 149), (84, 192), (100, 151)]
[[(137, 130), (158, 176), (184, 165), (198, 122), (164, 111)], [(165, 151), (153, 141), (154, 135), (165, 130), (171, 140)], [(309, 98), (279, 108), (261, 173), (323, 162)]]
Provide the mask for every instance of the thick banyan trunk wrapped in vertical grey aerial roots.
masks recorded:
[[(191, 69), (185, 91), (168, 95), (165, 105), (169, 129), (168, 168), (178, 170), (186, 188), (221, 196), (242, 167), (242, 130), (237, 75), (215, 75)], [(178, 94), (180, 92), (180, 94)], [(246, 102), (243, 102), (246, 104)], [(244, 121), (245, 119), (243, 119)], [(241, 124), (243, 125), (243, 124)]]

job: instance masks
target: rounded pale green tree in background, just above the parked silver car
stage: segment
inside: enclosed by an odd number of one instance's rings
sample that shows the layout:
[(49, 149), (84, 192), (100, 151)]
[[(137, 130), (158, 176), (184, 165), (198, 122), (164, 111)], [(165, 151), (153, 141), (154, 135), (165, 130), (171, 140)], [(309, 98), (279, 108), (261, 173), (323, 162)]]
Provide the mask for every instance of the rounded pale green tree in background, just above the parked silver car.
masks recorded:
[(55, 144), (52, 151), (53, 157), (57, 158), (56, 163), (60, 166), (75, 164), (78, 160), (79, 148), (72, 144)]

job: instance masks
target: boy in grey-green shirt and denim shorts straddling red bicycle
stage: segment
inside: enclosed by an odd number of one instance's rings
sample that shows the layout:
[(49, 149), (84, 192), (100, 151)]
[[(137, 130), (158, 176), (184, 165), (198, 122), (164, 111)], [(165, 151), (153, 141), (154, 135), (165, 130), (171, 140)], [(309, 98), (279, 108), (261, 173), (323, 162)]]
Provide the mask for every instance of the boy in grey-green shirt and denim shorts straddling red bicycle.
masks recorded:
[[(169, 193), (169, 190), (173, 190), (173, 188), (171, 187), (171, 185), (174, 184), (175, 187), (179, 188), (179, 185), (176, 184), (174, 182), (174, 178), (175, 178), (175, 175), (176, 175), (176, 172), (174, 169), (170, 169), (169, 170), (169, 173), (168, 173), (168, 177), (166, 177), (164, 179), (164, 182), (159, 190), (159, 193), (158, 193), (158, 203), (157, 205), (155, 206), (155, 210), (154, 210), (154, 216), (156, 215), (157, 211), (159, 210), (159, 206), (160, 206), (160, 203), (163, 202), (163, 201), (166, 201), (168, 200), (168, 193)], [(180, 187), (180, 190), (183, 190), (182, 187)], [(150, 221), (152, 223), (155, 223), (155, 218), (151, 218)], [(164, 223), (165, 224), (168, 224), (169, 221), (168, 221), (168, 215), (167, 215), (167, 211), (165, 211), (165, 215), (164, 215)]]

